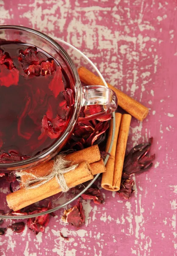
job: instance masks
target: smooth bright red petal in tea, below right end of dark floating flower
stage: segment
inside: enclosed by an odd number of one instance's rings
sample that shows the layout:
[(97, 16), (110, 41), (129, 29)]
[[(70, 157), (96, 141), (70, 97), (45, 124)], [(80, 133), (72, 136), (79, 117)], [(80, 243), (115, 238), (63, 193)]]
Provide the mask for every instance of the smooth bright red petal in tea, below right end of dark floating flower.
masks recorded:
[(61, 91), (65, 90), (65, 86), (62, 80), (62, 70), (60, 66), (56, 67), (53, 79), (49, 84), (49, 89), (53, 91), (55, 97), (57, 97)]

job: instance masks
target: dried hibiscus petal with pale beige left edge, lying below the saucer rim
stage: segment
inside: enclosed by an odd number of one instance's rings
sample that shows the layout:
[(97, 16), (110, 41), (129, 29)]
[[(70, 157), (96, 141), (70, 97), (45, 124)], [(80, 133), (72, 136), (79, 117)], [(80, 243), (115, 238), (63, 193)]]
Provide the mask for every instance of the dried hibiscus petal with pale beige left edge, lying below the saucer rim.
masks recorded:
[(77, 205), (75, 205), (73, 208), (65, 210), (62, 216), (62, 221), (69, 223), (74, 227), (80, 227), (85, 223), (84, 209), (79, 199)]

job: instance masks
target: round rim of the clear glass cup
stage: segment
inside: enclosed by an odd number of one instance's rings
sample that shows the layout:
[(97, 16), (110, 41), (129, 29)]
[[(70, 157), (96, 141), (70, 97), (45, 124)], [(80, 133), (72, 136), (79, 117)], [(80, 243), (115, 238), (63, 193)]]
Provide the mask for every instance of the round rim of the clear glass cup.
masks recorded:
[[(34, 157), (30, 157), (29, 159), (23, 160), (23, 161), (18, 161), (18, 162), (13, 162), (13, 163), (0, 163), (0, 168), (5, 169), (5, 168), (17, 168), (17, 167), (22, 167), (22, 166), (28, 166), (32, 163), (37, 162), (38, 160), (42, 160), (47, 158), (50, 154), (52, 154), (53, 151), (57, 150), (57, 148), (59, 147), (59, 145), (61, 145), (63, 143), (63, 141), (65, 140), (65, 138), (67, 137), (68, 133), (70, 132), (70, 130), (72, 129), (72, 127), (74, 125), (76, 125), (78, 116), (79, 116), (79, 111), (81, 108), (81, 101), (78, 101), (78, 98), (81, 98), (81, 86), (80, 86), (80, 79), (79, 79), (79, 75), (77, 73), (76, 67), (73, 64), (73, 61), (71, 60), (70, 56), (67, 54), (67, 52), (65, 51), (65, 49), (63, 49), (56, 41), (54, 41), (52, 38), (50, 38), (48, 35), (43, 34), (42, 32), (39, 32), (35, 29), (30, 29), (27, 27), (23, 27), (23, 26), (13, 26), (13, 25), (9, 25), (9, 26), (0, 26), (0, 31), (1, 30), (5, 30), (5, 29), (16, 29), (16, 30), (21, 30), (21, 31), (25, 31), (25, 32), (29, 32), (31, 34), (35, 34), (38, 35), (40, 38), (44, 38), (45, 40), (47, 40), (50, 44), (52, 44), (57, 50), (59, 50), (62, 55), (65, 57), (66, 61), (68, 62), (68, 64), (70, 65), (70, 68), (73, 72), (73, 76), (75, 79), (75, 88), (76, 88), (76, 100), (75, 100), (75, 105), (73, 108), (73, 114), (72, 117), (70, 119), (69, 124), (67, 125), (66, 130), (64, 131), (64, 133), (62, 134), (61, 137), (59, 137), (58, 140), (56, 140), (55, 143), (53, 143), (53, 145), (51, 145), (48, 149), (46, 149), (45, 151), (41, 152), (40, 154), (34, 156)], [(63, 41), (64, 42), (64, 41)]]

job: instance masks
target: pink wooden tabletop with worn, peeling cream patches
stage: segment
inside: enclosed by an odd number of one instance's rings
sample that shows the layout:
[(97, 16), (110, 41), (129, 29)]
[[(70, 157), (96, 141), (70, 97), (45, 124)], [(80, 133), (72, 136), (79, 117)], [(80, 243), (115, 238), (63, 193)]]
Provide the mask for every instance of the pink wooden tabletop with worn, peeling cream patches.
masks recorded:
[(0, 0), (0, 24), (38, 29), (82, 50), (107, 81), (150, 109), (143, 123), (132, 119), (129, 148), (153, 136), (156, 153), (129, 201), (101, 189), (103, 205), (83, 201), (81, 229), (61, 221), (62, 209), (45, 233), (25, 227), (0, 236), (0, 256), (177, 256), (177, 1)]

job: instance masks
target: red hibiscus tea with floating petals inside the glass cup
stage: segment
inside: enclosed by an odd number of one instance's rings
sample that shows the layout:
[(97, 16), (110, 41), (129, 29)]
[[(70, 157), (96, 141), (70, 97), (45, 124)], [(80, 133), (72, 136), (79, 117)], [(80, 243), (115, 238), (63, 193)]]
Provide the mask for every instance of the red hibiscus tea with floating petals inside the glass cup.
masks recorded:
[(0, 163), (35, 156), (65, 131), (74, 92), (62, 66), (35, 46), (0, 42)]

